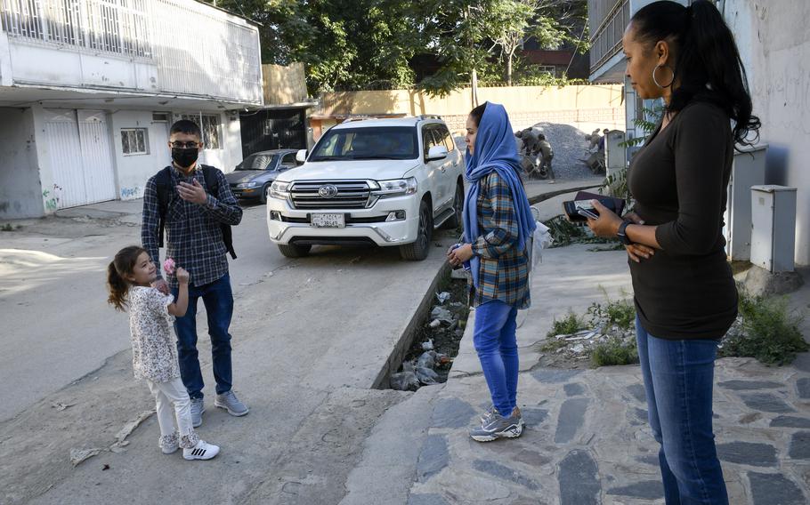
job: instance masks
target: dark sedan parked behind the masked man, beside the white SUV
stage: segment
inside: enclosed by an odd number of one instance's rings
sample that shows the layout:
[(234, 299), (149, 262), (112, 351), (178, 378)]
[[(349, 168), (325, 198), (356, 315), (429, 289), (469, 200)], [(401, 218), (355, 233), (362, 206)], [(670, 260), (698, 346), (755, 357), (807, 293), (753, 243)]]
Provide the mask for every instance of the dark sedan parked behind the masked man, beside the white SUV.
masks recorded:
[(259, 198), (265, 203), (272, 181), (279, 173), (296, 167), (297, 152), (298, 149), (273, 149), (254, 153), (236, 165), (233, 172), (226, 173), (225, 179), (235, 196)]

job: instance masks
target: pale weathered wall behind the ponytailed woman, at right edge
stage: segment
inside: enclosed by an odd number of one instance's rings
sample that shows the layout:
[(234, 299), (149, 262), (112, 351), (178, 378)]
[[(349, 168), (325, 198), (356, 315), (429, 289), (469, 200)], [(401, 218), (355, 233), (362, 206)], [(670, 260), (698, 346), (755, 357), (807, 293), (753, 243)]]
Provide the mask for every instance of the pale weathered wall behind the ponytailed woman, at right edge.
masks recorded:
[[(724, 5), (725, 4), (725, 5)], [(810, 3), (721, 4), (748, 70), (754, 113), (769, 146), (765, 182), (798, 188), (796, 262), (810, 264)]]

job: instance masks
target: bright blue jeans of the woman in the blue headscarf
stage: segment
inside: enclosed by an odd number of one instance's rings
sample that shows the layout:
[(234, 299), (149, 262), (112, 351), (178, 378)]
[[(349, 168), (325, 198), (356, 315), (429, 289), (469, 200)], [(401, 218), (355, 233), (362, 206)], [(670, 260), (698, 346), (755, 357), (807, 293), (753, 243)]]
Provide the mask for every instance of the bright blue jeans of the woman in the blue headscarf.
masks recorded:
[(487, 301), (475, 309), (473, 345), (498, 413), (512, 413), (517, 397), (517, 308)]

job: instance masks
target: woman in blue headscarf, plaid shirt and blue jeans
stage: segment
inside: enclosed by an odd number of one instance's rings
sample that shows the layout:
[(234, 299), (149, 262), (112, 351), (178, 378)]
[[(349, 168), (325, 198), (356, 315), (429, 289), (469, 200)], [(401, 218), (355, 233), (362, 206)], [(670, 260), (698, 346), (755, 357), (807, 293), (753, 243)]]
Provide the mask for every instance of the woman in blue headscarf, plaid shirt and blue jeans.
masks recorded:
[(466, 122), (464, 244), (448, 252), (454, 267), (469, 261), (474, 293), (473, 342), (490, 388), (492, 407), (470, 437), (489, 442), (520, 437), (517, 408), (518, 357), (515, 332), (518, 309), (529, 307), (529, 252), (534, 228), (523, 191), (512, 125), (506, 109), (486, 102)]

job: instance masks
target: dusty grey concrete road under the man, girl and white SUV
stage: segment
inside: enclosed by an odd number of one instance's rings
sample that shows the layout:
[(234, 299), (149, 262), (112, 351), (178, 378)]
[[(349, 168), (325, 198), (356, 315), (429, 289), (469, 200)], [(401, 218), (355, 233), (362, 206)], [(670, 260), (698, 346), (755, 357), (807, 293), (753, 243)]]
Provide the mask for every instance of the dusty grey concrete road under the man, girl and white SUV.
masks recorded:
[[(0, 380), (13, 385), (0, 402), (0, 503), (339, 501), (369, 429), (409, 396), (371, 386), (453, 237), (436, 234), (421, 262), (395, 249), (335, 247), (291, 261), (270, 244), (263, 207), (247, 207), (234, 231), (231, 333), (234, 389), (251, 412), (237, 419), (213, 406), (200, 304), (200, 433), (223, 453), (199, 462), (158, 451), (154, 416), (126, 438), (126, 452), (110, 451), (127, 421), (154, 408), (132, 378), (127, 317), (104, 293), (110, 256), (138, 242), (136, 222), (132, 212), (62, 218), (0, 236)], [(74, 469), (71, 451), (82, 449), (101, 453)]]

